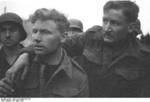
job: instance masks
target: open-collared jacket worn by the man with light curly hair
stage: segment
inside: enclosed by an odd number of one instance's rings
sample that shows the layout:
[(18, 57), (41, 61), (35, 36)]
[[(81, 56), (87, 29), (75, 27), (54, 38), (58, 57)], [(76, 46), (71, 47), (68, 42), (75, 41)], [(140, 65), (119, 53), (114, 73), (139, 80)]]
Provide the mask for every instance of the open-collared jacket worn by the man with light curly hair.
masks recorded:
[(45, 65), (32, 63), (22, 82), (16, 82), (16, 96), (23, 97), (87, 97), (88, 79), (84, 70), (66, 53), (57, 70), (44, 79)]

